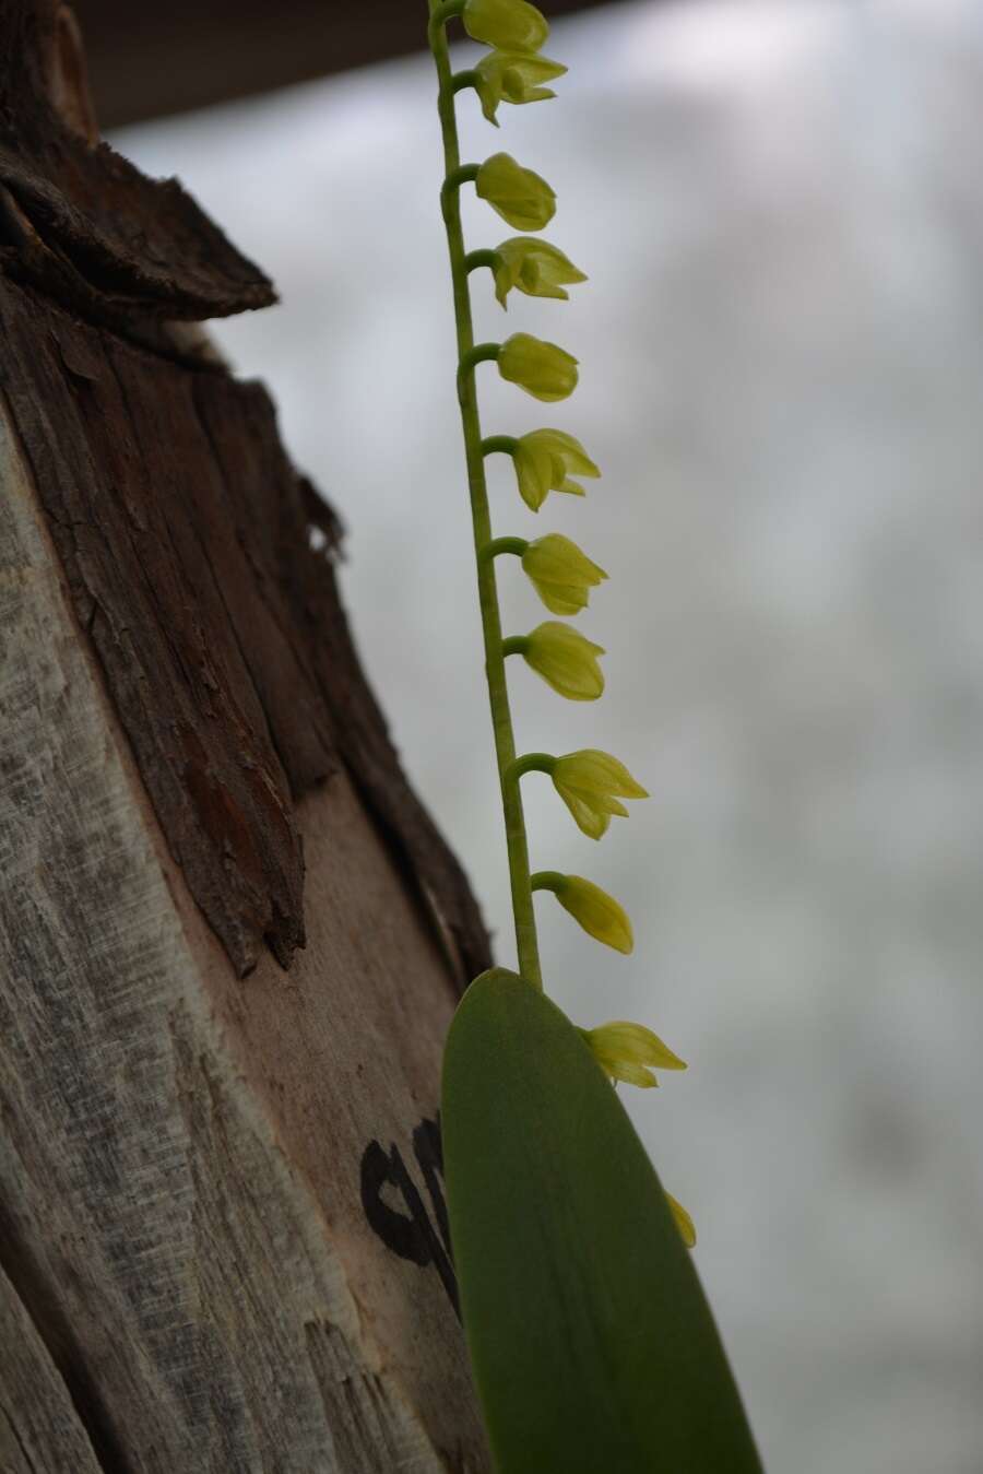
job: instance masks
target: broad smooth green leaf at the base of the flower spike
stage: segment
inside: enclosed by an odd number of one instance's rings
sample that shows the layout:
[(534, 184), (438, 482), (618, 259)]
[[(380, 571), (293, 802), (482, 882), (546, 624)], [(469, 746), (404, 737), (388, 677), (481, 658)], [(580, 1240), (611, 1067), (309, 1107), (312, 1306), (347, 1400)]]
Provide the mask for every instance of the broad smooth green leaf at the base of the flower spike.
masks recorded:
[(573, 1024), (483, 973), (444, 1055), (444, 1162), (500, 1474), (760, 1474), (659, 1179)]

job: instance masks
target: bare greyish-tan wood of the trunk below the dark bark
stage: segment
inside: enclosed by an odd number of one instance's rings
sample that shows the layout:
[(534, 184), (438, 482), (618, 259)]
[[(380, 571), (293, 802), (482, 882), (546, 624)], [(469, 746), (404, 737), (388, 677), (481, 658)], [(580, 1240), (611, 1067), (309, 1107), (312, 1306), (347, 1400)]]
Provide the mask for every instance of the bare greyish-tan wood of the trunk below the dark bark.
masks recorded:
[(445, 958), (337, 771), (299, 812), (307, 952), (237, 979), (9, 414), (0, 485), (3, 1468), (485, 1470), (441, 1276), (371, 1231), (360, 1182), (377, 1139), (426, 1195)]

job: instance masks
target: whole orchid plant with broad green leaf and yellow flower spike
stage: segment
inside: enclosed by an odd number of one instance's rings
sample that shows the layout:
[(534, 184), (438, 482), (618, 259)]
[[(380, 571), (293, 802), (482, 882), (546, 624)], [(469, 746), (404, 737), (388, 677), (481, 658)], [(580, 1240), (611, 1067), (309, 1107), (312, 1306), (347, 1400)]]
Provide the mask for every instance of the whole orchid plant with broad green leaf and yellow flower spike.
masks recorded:
[[(713, 1316), (684, 1246), (693, 1220), (662, 1187), (610, 1085), (643, 1089), (684, 1061), (651, 1029), (622, 1020), (576, 1027), (545, 996), (534, 896), (551, 893), (598, 942), (634, 946), (619, 902), (584, 876), (532, 871), (522, 805), (529, 774), (550, 777), (578, 828), (600, 840), (625, 800), (647, 797), (623, 762), (579, 749), (516, 755), (506, 665), (520, 656), (554, 691), (594, 702), (601, 646), (570, 624), (607, 578), (560, 532), (494, 535), (485, 463), (511, 458), (519, 497), (538, 513), (551, 492), (582, 497), (600, 475), (567, 430), (483, 436), (476, 371), (494, 363), (544, 404), (576, 388), (573, 354), (517, 332), (475, 343), (470, 277), (488, 270), (511, 292), (566, 301), (587, 280), (536, 239), (556, 195), (508, 153), (461, 164), (455, 99), (472, 88), (498, 125), (503, 103), (542, 102), (566, 71), (542, 56), (548, 27), (526, 0), (429, 0), (429, 40), (444, 136), (441, 206), (457, 326), (457, 398), (475, 534), (477, 598), (506, 821), (519, 971), (475, 979), (451, 1023), (442, 1069), (447, 1206), (460, 1307), (498, 1474), (760, 1474), (760, 1461)], [(488, 47), (454, 72), (448, 22)], [(522, 231), (466, 251), (461, 190)], [(517, 559), (551, 616), (503, 635), (500, 560)]]

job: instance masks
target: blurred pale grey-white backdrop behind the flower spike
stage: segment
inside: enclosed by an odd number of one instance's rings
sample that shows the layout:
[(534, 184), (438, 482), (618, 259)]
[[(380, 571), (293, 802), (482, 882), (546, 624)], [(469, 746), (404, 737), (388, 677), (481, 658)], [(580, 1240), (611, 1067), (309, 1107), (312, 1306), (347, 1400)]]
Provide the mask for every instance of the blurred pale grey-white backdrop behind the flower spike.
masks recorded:
[[(547, 986), (691, 1061), (626, 1095), (772, 1474), (980, 1474), (983, 6), (623, 4), (547, 50), (560, 100), (495, 133), (464, 97), (463, 156), (544, 174), (591, 280), (504, 317), (479, 276), (476, 327), (563, 343), (581, 388), (480, 397), (486, 433), (600, 461), (538, 519), (503, 457), (492, 492), (498, 534), (612, 573), (581, 618), (610, 653), (600, 703), (520, 663), (513, 702), (520, 749), (610, 749), (653, 794), (594, 845), (526, 780), (534, 864), (637, 935), (541, 898)], [(113, 142), (280, 287), (217, 336), (348, 525), (364, 660), (508, 964), (433, 99), (420, 56)], [(545, 618), (523, 582), (507, 629)]]

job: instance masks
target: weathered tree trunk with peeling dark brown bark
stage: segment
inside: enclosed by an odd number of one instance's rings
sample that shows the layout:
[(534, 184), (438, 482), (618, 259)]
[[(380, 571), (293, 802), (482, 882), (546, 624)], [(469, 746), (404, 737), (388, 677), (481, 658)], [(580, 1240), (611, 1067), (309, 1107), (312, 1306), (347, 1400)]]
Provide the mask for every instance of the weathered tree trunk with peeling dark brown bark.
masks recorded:
[(0, 4), (0, 1470), (489, 1467), (439, 1058), (488, 965), (259, 385), (273, 290)]

